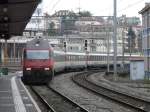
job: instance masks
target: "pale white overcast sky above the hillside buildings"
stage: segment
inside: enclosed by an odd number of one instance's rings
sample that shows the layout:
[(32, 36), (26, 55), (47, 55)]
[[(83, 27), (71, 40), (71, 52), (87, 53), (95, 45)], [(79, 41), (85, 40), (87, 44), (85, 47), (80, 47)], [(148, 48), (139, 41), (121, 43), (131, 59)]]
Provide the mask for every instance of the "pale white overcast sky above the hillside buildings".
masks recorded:
[[(43, 12), (53, 14), (58, 10), (73, 10), (77, 12), (88, 10), (94, 16), (113, 15), (114, 0), (43, 0)], [(145, 6), (145, 2), (150, 0), (117, 0), (117, 16), (126, 14), (127, 16), (140, 16), (138, 12)]]

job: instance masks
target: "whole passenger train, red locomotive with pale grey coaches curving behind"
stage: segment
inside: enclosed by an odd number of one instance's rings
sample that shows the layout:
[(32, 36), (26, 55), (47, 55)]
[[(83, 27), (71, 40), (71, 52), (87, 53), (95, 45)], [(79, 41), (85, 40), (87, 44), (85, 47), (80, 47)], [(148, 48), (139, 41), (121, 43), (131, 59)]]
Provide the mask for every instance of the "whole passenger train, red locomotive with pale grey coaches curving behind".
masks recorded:
[[(109, 60), (112, 65), (112, 54)], [(129, 62), (129, 56), (125, 56), (124, 60)], [(122, 56), (117, 56), (117, 61), (121, 63)], [(38, 38), (27, 42), (24, 48), (22, 79), (25, 83), (46, 84), (56, 72), (106, 66), (106, 63), (107, 54), (56, 51), (46, 39)]]

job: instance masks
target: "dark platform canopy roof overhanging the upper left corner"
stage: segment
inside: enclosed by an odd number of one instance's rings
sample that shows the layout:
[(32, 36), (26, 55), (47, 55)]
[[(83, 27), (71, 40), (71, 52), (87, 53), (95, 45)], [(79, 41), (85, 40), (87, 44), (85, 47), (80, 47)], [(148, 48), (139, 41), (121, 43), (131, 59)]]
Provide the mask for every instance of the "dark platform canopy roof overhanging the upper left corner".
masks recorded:
[(41, 0), (0, 0), (0, 38), (22, 35)]

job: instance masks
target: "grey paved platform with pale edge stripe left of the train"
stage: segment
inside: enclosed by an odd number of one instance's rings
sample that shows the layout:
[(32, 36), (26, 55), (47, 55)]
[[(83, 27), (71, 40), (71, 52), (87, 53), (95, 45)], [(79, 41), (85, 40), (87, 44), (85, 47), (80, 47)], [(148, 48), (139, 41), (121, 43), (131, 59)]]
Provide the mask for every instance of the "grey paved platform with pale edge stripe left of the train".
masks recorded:
[(18, 73), (0, 77), (0, 112), (41, 112)]

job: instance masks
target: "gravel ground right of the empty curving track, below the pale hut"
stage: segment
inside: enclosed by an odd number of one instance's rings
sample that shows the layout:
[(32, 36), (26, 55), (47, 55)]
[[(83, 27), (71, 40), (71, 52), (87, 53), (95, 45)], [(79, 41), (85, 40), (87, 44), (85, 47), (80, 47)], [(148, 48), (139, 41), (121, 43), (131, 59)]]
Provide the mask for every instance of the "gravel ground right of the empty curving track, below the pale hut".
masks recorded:
[[(106, 78), (106, 76), (105, 76)], [(118, 80), (118, 81), (112, 81), (112, 77), (110, 78), (107, 78), (105, 79), (103, 77), (102, 74), (94, 74), (94, 75), (91, 75), (89, 77), (89, 79), (94, 82), (94, 83), (97, 83), (97, 84), (104, 84), (106, 85), (107, 87), (110, 87), (112, 89), (115, 89), (115, 90), (119, 90), (119, 91), (122, 91), (124, 93), (128, 93), (128, 94), (132, 94), (132, 95), (135, 95), (137, 97), (141, 97), (142, 99), (146, 99), (148, 101), (150, 101), (150, 92), (148, 91), (150, 88), (141, 88), (143, 86), (145, 87), (150, 87), (149, 84), (145, 84), (141, 81), (139, 82), (135, 82), (135, 81), (129, 81), (129, 80), (126, 80), (126, 79), (123, 79), (123, 83), (121, 83), (121, 80)], [(140, 87), (140, 88), (138, 88)]]

